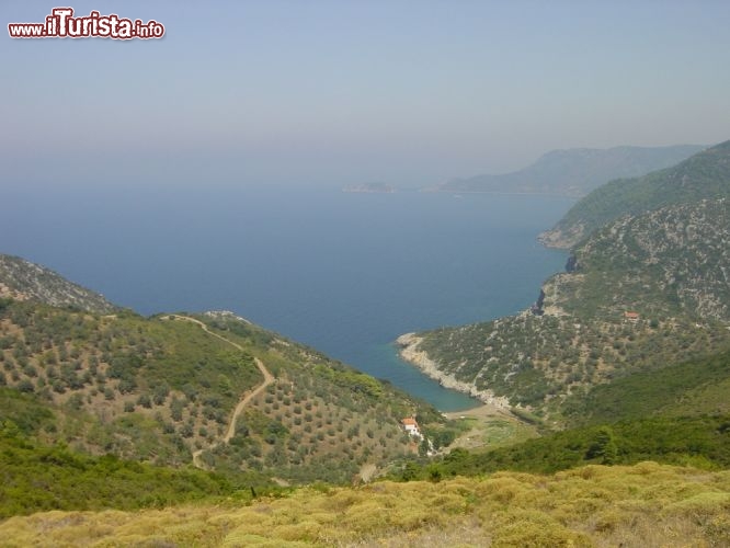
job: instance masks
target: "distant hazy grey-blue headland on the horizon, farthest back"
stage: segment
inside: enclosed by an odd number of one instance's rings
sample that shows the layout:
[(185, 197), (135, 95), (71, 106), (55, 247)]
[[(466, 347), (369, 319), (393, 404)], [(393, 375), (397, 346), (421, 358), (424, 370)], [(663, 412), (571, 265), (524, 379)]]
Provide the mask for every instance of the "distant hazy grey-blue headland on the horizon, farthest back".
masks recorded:
[(438, 186), (444, 192), (509, 192), (583, 196), (613, 179), (638, 176), (668, 168), (705, 147), (615, 147), (554, 150), (512, 173), (454, 179)]

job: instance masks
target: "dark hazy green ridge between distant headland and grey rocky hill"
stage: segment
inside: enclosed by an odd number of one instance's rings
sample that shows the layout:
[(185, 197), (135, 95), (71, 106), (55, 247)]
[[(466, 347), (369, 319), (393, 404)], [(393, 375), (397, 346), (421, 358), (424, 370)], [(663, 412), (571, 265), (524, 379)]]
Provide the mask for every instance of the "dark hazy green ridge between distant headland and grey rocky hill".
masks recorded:
[(571, 248), (621, 215), (729, 196), (730, 141), (726, 141), (672, 168), (601, 186), (571, 207), (540, 240), (550, 247)]

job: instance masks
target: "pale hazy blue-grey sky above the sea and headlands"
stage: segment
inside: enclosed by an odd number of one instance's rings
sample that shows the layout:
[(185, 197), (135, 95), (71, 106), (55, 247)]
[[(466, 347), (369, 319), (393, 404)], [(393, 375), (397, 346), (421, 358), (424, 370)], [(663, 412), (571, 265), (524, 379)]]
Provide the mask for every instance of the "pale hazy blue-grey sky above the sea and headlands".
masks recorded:
[(730, 139), (730, 2), (76, 1), (162, 39), (11, 39), (0, 186), (427, 185), (556, 148)]

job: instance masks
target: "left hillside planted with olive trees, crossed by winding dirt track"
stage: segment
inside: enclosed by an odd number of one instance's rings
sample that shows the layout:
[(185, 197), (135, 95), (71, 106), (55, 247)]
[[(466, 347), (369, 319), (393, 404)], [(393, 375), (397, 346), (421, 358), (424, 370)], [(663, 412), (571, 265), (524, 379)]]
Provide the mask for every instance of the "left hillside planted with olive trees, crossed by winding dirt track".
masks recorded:
[[(30, 273), (0, 282), (37, 272), (18, 269)], [(35, 295), (57, 302), (68, 283), (44, 279)], [(195, 455), (262, 480), (350, 481), (417, 450), (401, 419), (444, 429), (431, 406), (230, 312), (142, 318), (79, 302), (0, 299), (0, 422), (39, 443), (172, 466)]]

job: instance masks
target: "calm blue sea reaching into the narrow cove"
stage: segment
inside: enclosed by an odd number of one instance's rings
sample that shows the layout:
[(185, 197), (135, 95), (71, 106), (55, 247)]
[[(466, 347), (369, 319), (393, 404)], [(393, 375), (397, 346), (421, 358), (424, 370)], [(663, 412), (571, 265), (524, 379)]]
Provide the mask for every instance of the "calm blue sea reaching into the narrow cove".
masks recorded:
[(528, 307), (572, 201), (332, 189), (7, 189), (0, 252), (144, 315), (227, 309), (444, 411), (475, 400), (402, 363), (406, 332)]

